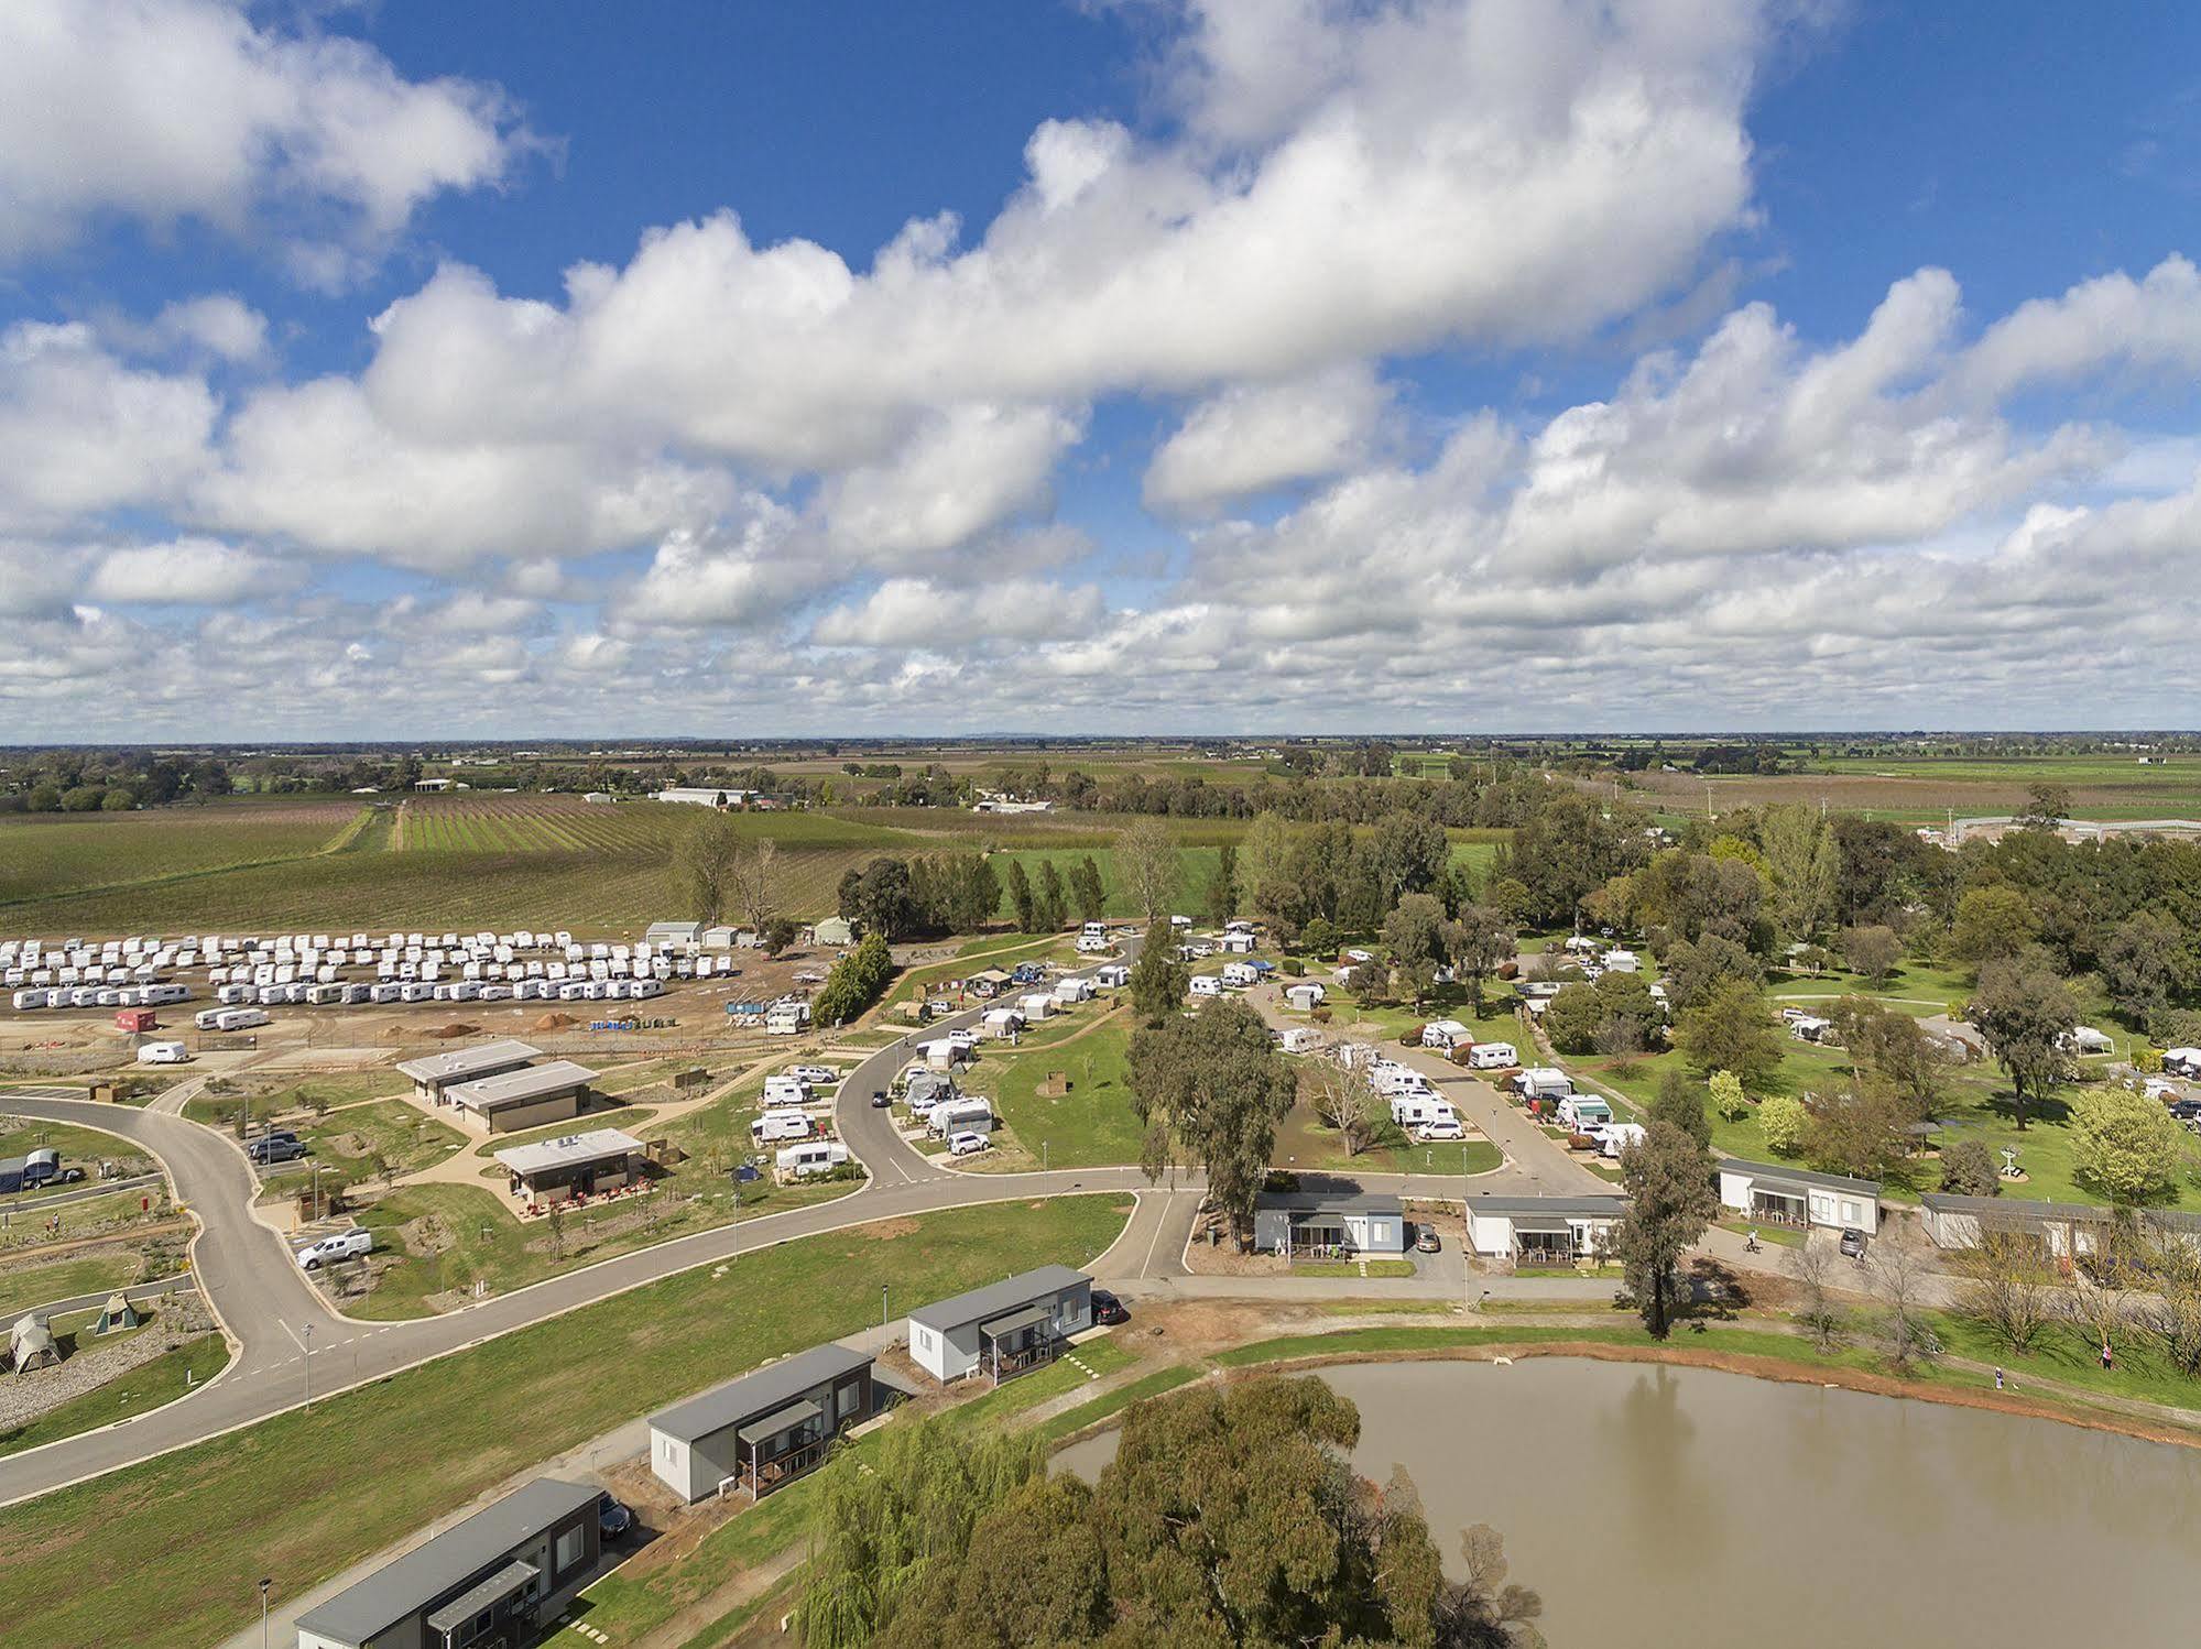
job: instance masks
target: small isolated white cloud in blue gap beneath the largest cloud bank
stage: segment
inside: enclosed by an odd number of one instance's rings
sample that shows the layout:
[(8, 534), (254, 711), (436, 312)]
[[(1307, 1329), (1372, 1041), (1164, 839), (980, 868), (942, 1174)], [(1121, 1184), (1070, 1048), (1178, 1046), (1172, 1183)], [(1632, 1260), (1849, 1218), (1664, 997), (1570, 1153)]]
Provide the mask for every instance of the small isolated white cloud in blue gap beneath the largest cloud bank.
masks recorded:
[(1389, 392), (1367, 365), (1233, 385), (1193, 407), (1147, 465), (1149, 509), (1197, 515), (1369, 458)]

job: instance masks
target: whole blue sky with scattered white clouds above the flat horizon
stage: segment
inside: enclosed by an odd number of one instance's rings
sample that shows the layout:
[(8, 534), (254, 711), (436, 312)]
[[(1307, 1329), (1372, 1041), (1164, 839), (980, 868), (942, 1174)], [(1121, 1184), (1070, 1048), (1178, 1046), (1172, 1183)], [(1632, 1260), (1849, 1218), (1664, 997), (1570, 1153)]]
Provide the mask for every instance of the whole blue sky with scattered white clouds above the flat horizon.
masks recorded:
[(0, 711), (2188, 724), (2197, 35), (22, 0)]

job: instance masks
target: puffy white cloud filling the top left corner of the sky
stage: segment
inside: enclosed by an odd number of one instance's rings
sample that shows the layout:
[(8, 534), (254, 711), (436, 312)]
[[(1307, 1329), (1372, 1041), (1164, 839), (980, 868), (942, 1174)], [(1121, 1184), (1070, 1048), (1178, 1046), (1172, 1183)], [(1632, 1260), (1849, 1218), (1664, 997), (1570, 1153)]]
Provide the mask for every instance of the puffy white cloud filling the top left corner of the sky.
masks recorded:
[(341, 35), (222, 0), (13, 0), (0, 9), (0, 260), (101, 218), (280, 218), (341, 282), (445, 189), (497, 183), (528, 143), (502, 92), (409, 81)]

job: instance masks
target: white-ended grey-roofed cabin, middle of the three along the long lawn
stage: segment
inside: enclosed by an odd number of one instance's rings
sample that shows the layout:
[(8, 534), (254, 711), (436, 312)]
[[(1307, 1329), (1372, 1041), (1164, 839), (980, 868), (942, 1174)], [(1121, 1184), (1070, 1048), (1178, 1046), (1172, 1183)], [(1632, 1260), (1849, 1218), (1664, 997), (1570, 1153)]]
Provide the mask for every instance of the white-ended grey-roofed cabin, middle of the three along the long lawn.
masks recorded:
[(823, 1464), (874, 1407), (869, 1354), (814, 1345), (649, 1416), (649, 1468), (685, 1501), (722, 1488), (762, 1499)]

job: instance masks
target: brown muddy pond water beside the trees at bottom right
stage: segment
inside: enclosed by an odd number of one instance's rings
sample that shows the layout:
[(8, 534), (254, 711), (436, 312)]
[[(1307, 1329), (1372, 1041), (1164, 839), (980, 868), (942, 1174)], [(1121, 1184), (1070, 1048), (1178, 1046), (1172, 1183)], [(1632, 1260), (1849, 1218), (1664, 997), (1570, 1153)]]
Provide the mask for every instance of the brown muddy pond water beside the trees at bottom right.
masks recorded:
[(1505, 1535), (1554, 1649), (2201, 1638), (2201, 1451), (1629, 1363), (1323, 1378), (1360, 1405), (1354, 1464), (1404, 1464), (1448, 1559), (1468, 1524)]

